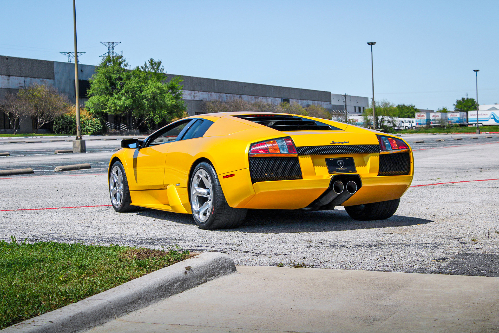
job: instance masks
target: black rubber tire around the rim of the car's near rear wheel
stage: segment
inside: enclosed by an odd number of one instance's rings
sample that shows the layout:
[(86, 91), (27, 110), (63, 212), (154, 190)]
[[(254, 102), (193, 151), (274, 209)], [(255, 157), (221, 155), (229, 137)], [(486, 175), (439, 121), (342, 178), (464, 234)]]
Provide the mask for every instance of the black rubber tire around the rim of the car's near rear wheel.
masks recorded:
[[(202, 221), (195, 213), (195, 205), (200, 205), (199, 202), (194, 202), (197, 199), (193, 199), (193, 183), (198, 181), (197, 177), (203, 171), (206, 172), (210, 177), (211, 181), (211, 198), (213, 200), (211, 207), (208, 210), (208, 217), (206, 220)], [(209, 199), (207, 199), (208, 201)], [(227, 203), (225, 199), (224, 192), (220, 186), (219, 178), (215, 172), (215, 168), (207, 163), (201, 162), (194, 168), (190, 182), (189, 182), (189, 201), (191, 203), (192, 216), (194, 222), (201, 229), (231, 229), (239, 227), (248, 213), (248, 209), (243, 208), (232, 208)], [(203, 216), (205, 217), (205, 216)]]

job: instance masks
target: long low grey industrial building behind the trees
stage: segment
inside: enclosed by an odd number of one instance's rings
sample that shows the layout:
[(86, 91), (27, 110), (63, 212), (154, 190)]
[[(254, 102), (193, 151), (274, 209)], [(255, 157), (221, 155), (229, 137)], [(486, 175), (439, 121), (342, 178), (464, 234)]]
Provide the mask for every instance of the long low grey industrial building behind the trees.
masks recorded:
[[(86, 95), (86, 90), (90, 86), (88, 80), (94, 74), (95, 67), (94, 65), (78, 64), (80, 105), (84, 105), (88, 100)], [(173, 76), (177, 75), (167, 74), (167, 80)], [(202, 109), (204, 101), (227, 101), (234, 98), (274, 104), (281, 102), (296, 102), (302, 106), (315, 104), (328, 111), (344, 112), (343, 96), (331, 94), (329, 91), (179, 76), (184, 79), (183, 99), (186, 102), (189, 115), (204, 113)], [(74, 63), (0, 55), (0, 103), (7, 92), (16, 92), (34, 83), (52, 86), (59, 93), (66, 95), (70, 101), (74, 101)], [(338, 98), (339, 100), (337, 100)], [(367, 97), (347, 95), (348, 113), (362, 113), (366, 107), (368, 107)], [(115, 118), (109, 115), (106, 120), (113, 123), (116, 121)], [(8, 119), (3, 112), (0, 112), (0, 132), (8, 132), (9, 130)], [(19, 132), (30, 133), (31, 131), (30, 119), (23, 119)]]

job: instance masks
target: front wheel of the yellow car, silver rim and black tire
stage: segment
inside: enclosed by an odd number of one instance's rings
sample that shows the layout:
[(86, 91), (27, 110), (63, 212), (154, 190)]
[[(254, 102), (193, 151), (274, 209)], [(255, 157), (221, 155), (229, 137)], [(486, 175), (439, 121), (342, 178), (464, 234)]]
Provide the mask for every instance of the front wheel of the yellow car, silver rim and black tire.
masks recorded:
[(120, 161), (116, 161), (111, 166), (109, 173), (109, 196), (111, 204), (115, 211), (124, 213), (137, 210), (137, 207), (131, 206), (132, 199), (128, 190), (128, 180), (125, 169)]

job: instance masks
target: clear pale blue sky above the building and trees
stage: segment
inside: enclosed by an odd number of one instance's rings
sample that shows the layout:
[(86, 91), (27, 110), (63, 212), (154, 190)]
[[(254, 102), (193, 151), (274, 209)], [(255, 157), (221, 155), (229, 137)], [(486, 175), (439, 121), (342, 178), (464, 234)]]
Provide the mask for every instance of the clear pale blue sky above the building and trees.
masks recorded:
[[(371, 95), (422, 109), (457, 98), (499, 103), (499, 1), (76, 0), (80, 63), (121, 41), (132, 66), (168, 73)], [(6, 1), (0, 54), (67, 61), (72, 1)]]

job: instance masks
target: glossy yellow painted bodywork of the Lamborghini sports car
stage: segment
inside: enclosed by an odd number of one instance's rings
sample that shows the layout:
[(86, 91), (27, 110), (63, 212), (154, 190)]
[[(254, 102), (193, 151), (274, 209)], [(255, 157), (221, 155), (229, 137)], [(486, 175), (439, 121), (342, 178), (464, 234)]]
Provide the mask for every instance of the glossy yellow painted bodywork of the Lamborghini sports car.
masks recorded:
[[(412, 182), (414, 164), (411, 150), (409, 176), (378, 177), (379, 154), (312, 155), (298, 157), (303, 179), (252, 184), (248, 159), (252, 143), (290, 136), (296, 146), (342, 144), (341, 142), (378, 144), (376, 134), (384, 133), (326, 119), (320, 121), (341, 128), (342, 131), (280, 132), (231, 116), (241, 113), (225, 112), (189, 117), (214, 121), (202, 138), (117, 151), (111, 162), (119, 159), (123, 163), (132, 204), (178, 213), (191, 213), (190, 172), (202, 160), (209, 161), (213, 165), (228, 204), (236, 208), (306, 207), (329, 186), (333, 175), (327, 170), (326, 158), (354, 158), (356, 174), (361, 177), (362, 187), (344, 203), (345, 206), (400, 198)], [(223, 178), (229, 174), (235, 176)]]

